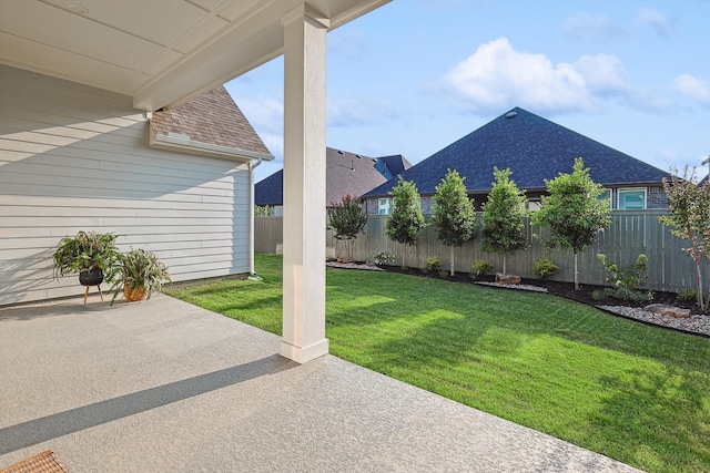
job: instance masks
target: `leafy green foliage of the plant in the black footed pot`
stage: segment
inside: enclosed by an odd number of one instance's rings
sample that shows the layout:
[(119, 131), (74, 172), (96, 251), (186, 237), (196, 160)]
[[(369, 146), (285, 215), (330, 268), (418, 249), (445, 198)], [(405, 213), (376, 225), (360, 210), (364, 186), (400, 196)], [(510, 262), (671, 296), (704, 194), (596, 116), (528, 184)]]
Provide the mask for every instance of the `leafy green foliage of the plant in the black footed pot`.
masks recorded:
[(112, 233), (79, 232), (73, 237), (64, 237), (52, 255), (54, 278), (78, 274), (90, 269), (102, 269), (110, 281), (112, 268), (119, 256), (116, 235)]

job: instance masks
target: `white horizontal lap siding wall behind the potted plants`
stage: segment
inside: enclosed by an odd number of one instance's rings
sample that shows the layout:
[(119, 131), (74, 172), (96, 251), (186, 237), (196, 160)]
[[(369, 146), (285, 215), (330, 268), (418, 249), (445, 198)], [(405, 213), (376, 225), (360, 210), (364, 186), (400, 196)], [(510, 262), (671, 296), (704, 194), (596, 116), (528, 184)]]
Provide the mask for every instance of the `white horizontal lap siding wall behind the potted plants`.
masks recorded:
[(155, 251), (175, 281), (248, 271), (246, 166), (150, 148), (120, 94), (0, 66), (0, 305), (82, 294), (51, 261), (78, 230)]

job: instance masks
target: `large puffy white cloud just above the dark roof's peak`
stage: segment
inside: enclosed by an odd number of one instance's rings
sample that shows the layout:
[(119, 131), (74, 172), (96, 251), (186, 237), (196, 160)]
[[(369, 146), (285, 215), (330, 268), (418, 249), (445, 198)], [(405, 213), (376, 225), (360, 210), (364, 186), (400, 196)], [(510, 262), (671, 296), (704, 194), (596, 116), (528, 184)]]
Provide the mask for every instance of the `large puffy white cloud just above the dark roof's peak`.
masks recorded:
[(506, 38), (481, 44), (445, 82), (475, 111), (520, 105), (538, 112), (597, 111), (604, 99), (628, 93), (618, 58), (584, 55), (554, 64), (544, 54), (515, 50)]

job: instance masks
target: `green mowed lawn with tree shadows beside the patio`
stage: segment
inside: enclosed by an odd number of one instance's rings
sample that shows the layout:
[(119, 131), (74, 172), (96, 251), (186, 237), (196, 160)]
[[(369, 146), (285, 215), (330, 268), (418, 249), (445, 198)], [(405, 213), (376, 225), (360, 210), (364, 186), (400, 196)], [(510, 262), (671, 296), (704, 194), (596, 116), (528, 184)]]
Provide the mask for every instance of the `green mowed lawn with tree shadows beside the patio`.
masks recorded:
[[(281, 333), (263, 281), (169, 294)], [(327, 269), (331, 353), (650, 472), (710, 471), (710, 339), (548, 295)]]

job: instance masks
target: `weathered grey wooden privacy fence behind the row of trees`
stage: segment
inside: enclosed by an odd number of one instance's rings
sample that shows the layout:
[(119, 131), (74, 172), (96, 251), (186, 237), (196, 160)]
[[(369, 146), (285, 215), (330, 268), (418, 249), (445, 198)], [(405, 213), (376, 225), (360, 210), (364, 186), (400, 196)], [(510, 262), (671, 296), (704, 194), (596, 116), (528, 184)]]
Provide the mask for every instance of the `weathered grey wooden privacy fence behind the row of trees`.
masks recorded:
[[(662, 291), (677, 291), (683, 287), (694, 287), (696, 267), (692, 259), (682, 248), (688, 247), (688, 241), (674, 237), (668, 227), (658, 222), (659, 215), (665, 210), (613, 210), (611, 225), (599, 235), (599, 241), (579, 254), (579, 281), (581, 284), (604, 285), (608, 276), (596, 255), (607, 255), (607, 260), (620, 267), (636, 263), (639, 254), (648, 257), (647, 288)], [(437, 257), (443, 261), (443, 267), (449, 267), (449, 248), (436, 239), (436, 230), (427, 226), (419, 238), (419, 244), (405, 248), (393, 243), (385, 235), (387, 216), (373, 215), (368, 217), (365, 234), (357, 237), (354, 245), (356, 260), (372, 260), (379, 251), (387, 251), (397, 257), (395, 264), (400, 265), (403, 255), (406, 266), (423, 268), (427, 257)], [(480, 214), (478, 215), (478, 234), (473, 241), (454, 250), (456, 271), (470, 273), (471, 264), (476, 259), (485, 259), (500, 271), (503, 258), (491, 253), (481, 251), (478, 248), (480, 241)], [(554, 278), (560, 281), (574, 281), (575, 264), (572, 251), (554, 249), (547, 251), (540, 238), (538, 227), (528, 225), (528, 240), (530, 247), (526, 250), (508, 255), (507, 270), (510, 274), (524, 278), (536, 278), (532, 265), (539, 258), (549, 258), (560, 267)], [(545, 236), (545, 235), (542, 235)], [(254, 226), (254, 248), (257, 253), (282, 253), (282, 218), (256, 217)], [(344, 254), (345, 246), (333, 238), (333, 232), (325, 235), (327, 254), (336, 257)], [(703, 281), (708, 282), (708, 269), (703, 264)], [(704, 285), (706, 289), (708, 284)]]

